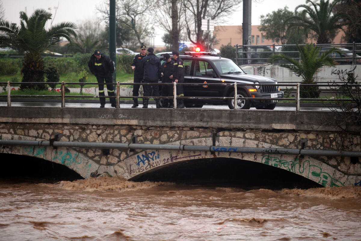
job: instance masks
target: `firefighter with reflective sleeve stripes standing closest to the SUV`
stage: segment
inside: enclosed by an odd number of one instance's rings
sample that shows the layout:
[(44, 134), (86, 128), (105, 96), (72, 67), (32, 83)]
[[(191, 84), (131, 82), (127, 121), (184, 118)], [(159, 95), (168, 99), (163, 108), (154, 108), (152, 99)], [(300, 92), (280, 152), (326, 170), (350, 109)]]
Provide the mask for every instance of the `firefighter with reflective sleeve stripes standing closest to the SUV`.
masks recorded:
[[(179, 52), (173, 51), (173, 75), (171, 76), (171, 79), (173, 79), (173, 82), (176, 83), (184, 83), (184, 66), (183, 66), (183, 60), (179, 58)], [(184, 90), (183, 85), (177, 86), (177, 96), (184, 96)], [(184, 100), (183, 99), (177, 99), (177, 108), (185, 108), (184, 106)]]

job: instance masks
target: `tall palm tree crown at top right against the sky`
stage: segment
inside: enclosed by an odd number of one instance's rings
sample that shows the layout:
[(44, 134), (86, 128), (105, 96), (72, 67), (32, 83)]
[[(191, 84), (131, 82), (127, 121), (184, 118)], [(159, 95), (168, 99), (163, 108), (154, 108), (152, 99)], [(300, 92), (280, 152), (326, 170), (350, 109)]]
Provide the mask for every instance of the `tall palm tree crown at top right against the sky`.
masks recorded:
[[(345, 17), (344, 13), (335, 12), (332, 10), (341, 0), (335, 0), (329, 3), (330, 0), (320, 0), (315, 4), (310, 0), (306, 0), (306, 4), (298, 5), (295, 12), (299, 8), (304, 8), (300, 15), (295, 15), (286, 20), (290, 23), (288, 29), (301, 27), (305, 34), (312, 30), (317, 38), (317, 44), (331, 43), (336, 36), (337, 30), (342, 30), (344, 23), (340, 22)], [(311, 4), (310, 6), (307, 4)]]

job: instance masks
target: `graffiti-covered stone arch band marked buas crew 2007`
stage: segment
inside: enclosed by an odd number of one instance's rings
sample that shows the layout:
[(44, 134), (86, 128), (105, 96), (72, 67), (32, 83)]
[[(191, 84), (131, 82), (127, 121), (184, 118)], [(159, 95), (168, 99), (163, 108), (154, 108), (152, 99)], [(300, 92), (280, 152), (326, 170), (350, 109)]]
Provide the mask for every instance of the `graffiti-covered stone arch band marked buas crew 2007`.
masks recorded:
[[(211, 138), (196, 138), (178, 142), (168, 143), (170, 145), (212, 145)], [(237, 137), (219, 137), (216, 141), (217, 146), (234, 147), (263, 147), (263, 148), (282, 148), (271, 145), (270, 143), (253, 141)], [(130, 156), (123, 162), (115, 165), (114, 169), (122, 170), (122, 176), (126, 179), (135, 179), (144, 173), (152, 172), (168, 165), (190, 161), (196, 159), (208, 158), (233, 158), (258, 162), (265, 165), (281, 168), (297, 175), (303, 176), (325, 187), (349, 186), (354, 185), (355, 176), (345, 175), (334, 167), (323, 163), (310, 156), (300, 158), (295, 155), (284, 155), (279, 153), (256, 154), (240, 152), (201, 152), (201, 151), (168, 151), (168, 150), (145, 150)], [(231, 167), (230, 167), (231, 168)], [(120, 172), (118, 172), (118, 175)]]

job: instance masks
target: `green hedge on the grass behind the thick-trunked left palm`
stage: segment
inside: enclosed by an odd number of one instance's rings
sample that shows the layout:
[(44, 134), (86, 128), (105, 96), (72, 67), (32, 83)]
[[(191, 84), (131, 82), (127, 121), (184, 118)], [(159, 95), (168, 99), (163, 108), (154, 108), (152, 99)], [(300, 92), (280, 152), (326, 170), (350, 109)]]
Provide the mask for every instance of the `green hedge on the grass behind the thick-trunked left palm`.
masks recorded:
[[(45, 65), (55, 65), (59, 74), (68, 74), (68, 73), (79, 73), (82, 70), (88, 68), (88, 61), (90, 60), (91, 54), (77, 54), (73, 57), (66, 58), (52, 58), (45, 57)], [(134, 55), (117, 55), (117, 72), (119, 73), (133, 73), (130, 65), (132, 64)], [(23, 58), (11, 59), (6, 57), (0, 58), (0, 75), (9, 75), (17, 73), (22, 67)]]

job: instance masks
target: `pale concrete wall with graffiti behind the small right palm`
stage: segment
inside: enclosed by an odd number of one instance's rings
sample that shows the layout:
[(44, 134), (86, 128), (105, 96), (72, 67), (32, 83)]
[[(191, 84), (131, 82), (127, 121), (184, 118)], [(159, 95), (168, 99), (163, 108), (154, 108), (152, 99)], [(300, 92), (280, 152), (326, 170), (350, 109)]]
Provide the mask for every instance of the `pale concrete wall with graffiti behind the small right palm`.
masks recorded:
[[(241, 65), (241, 68), (247, 74), (271, 77), (276, 79), (278, 82), (299, 83), (302, 81), (300, 76), (277, 65), (251, 64)], [(355, 76), (361, 77), (361, 65), (336, 65), (335, 67), (323, 67), (321, 71), (316, 74), (315, 80), (317, 82), (339, 82), (340, 76), (345, 76), (348, 72), (353, 72), (355, 73)]]

